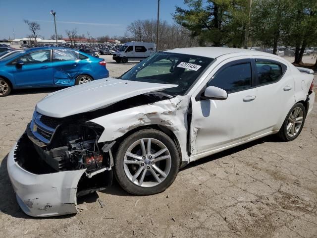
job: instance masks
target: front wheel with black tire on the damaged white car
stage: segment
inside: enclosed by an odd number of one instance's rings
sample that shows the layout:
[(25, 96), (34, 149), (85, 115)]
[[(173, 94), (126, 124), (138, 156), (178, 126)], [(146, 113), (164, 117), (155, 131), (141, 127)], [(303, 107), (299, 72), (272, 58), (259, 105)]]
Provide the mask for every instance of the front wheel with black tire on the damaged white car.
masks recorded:
[(121, 187), (135, 195), (164, 191), (175, 180), (179, 153), (165, 133), (142, 129), (125, 138), (116, 150), (114, 174)]

